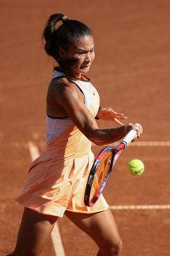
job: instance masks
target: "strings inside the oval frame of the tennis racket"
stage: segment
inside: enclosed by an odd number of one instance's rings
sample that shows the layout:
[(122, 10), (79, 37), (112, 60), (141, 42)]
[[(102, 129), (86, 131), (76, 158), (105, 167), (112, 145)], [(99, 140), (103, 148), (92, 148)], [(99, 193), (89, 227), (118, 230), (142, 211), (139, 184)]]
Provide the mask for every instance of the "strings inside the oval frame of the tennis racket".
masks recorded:
[(99, 166), (97, 166), (97, 171), (94, 175), (93, 186), (90, 193), (90, 200), (94, 195), (97, 195), (101, 186), (103, 185), (104, 180), (106, 179), (108, 172), (110, 172), (112, 167), (112, 155), (111, 150), (106, 152), (106, 154), (101, 159)]

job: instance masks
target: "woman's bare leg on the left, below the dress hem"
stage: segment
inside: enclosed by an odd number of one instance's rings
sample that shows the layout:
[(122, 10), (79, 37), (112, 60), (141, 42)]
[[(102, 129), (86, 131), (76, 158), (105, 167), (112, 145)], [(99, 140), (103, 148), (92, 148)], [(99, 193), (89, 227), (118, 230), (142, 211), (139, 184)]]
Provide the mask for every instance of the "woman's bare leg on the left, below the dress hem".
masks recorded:
[(17, 244), (10, 256), (39, 256), (57, 217), (24, 209)]

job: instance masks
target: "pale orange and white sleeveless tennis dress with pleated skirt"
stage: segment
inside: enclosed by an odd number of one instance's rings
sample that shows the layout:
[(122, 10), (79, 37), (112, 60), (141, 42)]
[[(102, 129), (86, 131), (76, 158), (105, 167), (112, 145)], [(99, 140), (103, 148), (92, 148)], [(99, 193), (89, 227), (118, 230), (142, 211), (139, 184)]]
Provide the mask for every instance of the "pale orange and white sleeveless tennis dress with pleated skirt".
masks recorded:
[[(66, 77), (57, 68), (53, 79)], [(95, 117), (99, 94), (89, 79), (74, 81), (85, 97), (85, 106)], [(57, 85), (56, 85), (57, 86)], [(108, 209), (103, 195), (96, 204), (84, 204), (85, 186), (94, 161), (91, 141), (67, 118), (46, 115), (46, 148), (30, 166), (24, 189), (16, 201), (41, 212), (62, 217), (65, 211), (90, 214)]]

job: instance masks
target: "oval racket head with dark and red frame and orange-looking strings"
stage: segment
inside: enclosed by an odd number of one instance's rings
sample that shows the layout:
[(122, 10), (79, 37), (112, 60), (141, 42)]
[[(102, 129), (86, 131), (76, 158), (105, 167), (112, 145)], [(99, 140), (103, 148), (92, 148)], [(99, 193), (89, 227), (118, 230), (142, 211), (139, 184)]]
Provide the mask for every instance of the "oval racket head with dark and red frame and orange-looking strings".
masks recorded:
[(101, 195), (113, 168), (114, 156), (115, 148), (113, 147), (105, 147), (97, 155), (87, 180), (84, 197), (85, 205), (91, 207)]

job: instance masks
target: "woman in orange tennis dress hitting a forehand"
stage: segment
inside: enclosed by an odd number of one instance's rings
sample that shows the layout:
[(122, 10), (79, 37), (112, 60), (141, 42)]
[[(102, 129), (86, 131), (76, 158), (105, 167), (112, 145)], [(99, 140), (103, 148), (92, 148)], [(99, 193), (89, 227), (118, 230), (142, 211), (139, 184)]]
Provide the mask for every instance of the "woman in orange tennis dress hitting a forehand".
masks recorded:
[[(118, 120), (126, 118), (123, 114), (99, 108), (96, 88), (84, 76), (94, 60), (92, 31), (85, 24), (53, 14), (43, 38), (45, 51), (59, 67), (54, 68), (46, 97), (46, 150), (31, 164), (16, 199), (25, 208), (11, 255), (40, 255), (55, 221), (64, 214), (94, 239), (97, 255), (120, 255), (122, 241), (103, 195), (92, 207), (83, 204), (94, 160), (91, 143), (113, 143), (131, 129), (139, 138), (142, 127), (123, 125)], [(95, 118), (115, 120), (121, 127), (99, 129)]]

